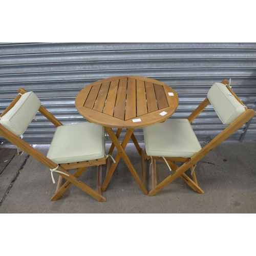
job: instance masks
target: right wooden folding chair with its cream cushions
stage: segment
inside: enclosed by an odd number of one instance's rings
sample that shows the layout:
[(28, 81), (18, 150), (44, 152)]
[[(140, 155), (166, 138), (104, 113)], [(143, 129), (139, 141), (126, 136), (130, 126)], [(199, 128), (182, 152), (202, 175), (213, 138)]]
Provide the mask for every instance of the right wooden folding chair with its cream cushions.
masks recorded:
[[(201, 145), (190, 123), (211, 103), (224, 124), (228, 126), (207, 145)], [(187, 119), (167, 119), (164, 123), (147, 126), (143, 129), (145, 140), (145, 158), (152, 160), (152, 190), (149, 196), (154, 196), (165, 186), (180, 177), (197, 193), (203, 194), (198, 186), (195, 167), (199, 160), (236, 132), (243, 124), (255, 115), (252, 109), (247, 109), (243, 102), (232, 92), (225, 79), (215, 83), (209, 90), (206, 99), (191, 113)], [(157, 184), (156, 160), (165, 162), (171, 170), (170, 175)], [(183, 162), (178, 167), (175, 164)], [(191, 170), (192, 177), (185, 174)]]

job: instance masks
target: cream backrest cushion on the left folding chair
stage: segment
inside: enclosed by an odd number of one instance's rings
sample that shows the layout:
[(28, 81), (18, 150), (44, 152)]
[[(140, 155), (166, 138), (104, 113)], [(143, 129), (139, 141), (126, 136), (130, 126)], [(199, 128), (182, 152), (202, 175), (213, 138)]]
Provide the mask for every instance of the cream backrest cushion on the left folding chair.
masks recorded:
[(0, 123), (17, 136), (23, 135), (40, 108), (41, 102), (33, 92), (23, 94)]

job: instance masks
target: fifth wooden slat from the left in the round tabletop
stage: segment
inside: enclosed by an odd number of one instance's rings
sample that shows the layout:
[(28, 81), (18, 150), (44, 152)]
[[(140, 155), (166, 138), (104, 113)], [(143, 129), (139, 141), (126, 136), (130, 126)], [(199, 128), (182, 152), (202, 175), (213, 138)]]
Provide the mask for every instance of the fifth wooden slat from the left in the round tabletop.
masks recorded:
[(128, 79), (125, 120), (136, 117), (136, 80)]

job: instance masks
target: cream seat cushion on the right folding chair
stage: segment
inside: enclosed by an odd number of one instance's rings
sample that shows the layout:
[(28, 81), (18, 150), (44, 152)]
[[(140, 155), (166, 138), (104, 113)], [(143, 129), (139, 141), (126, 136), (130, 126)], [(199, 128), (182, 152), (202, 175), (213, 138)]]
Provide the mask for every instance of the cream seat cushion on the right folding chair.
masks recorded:
[(202, 148), (187, 119), (167, 119), (143, 132), (148, 156), (192, 157)]

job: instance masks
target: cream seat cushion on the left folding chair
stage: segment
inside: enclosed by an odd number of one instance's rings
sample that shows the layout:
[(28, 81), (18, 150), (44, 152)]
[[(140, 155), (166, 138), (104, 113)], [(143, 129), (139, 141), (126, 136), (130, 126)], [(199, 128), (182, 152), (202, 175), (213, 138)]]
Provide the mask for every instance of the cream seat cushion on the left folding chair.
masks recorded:
[(58, 126), (47, 157), (57, 164), (103, 158), (104, 127), (84, 122)]

